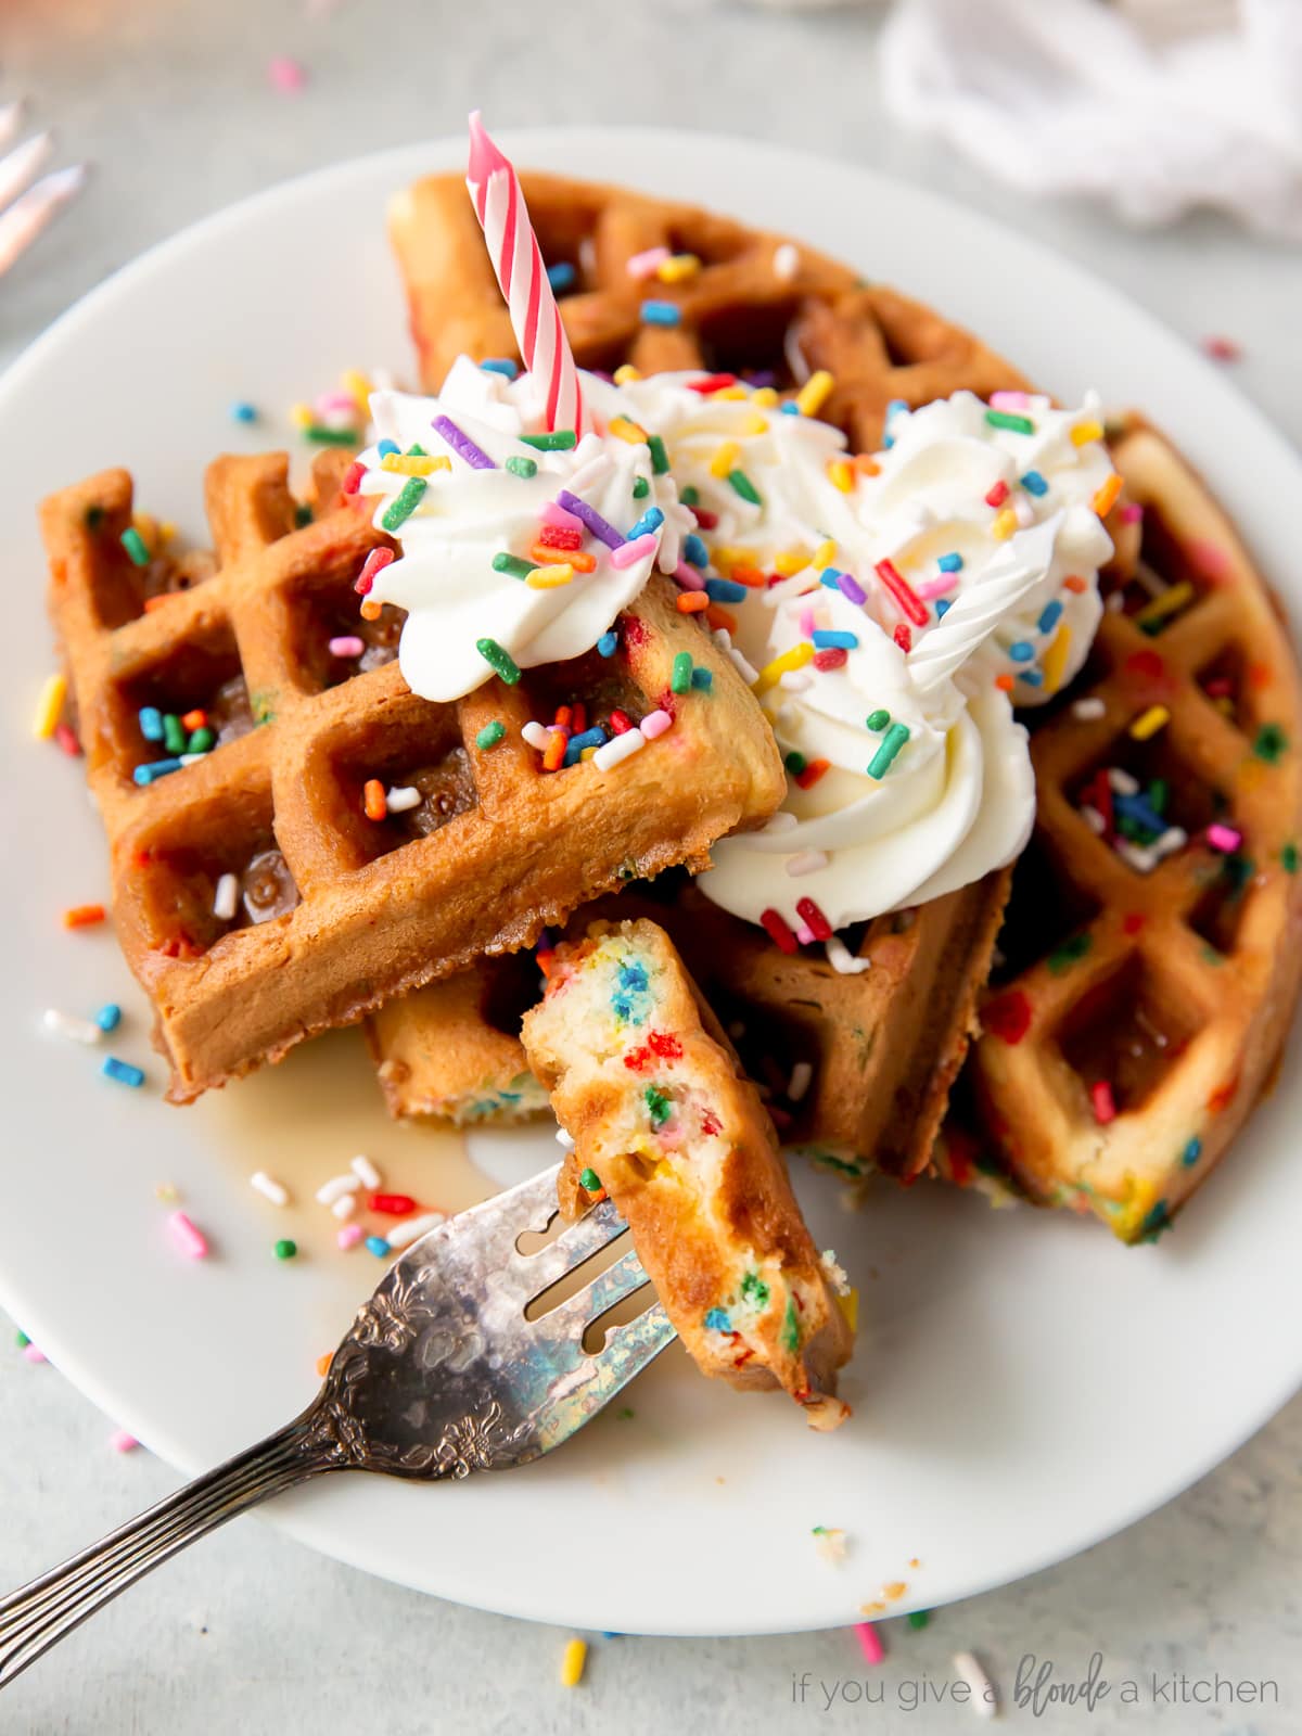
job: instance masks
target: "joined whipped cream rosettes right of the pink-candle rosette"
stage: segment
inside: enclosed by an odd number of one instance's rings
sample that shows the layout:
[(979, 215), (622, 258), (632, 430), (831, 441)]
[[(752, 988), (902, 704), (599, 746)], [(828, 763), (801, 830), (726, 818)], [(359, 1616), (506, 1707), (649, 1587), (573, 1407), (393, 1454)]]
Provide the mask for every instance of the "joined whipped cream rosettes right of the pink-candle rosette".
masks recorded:
[(849, 458), (771, 394), (691, 380), (627, 398), (696, 510), (686, 559), (790, 773), (779, 814), (715, 845), (701, 889), (795, 946), (1003, 866), (1035, 818), (1014, 703), (1071, 679), (1101, 615), (1120, 484), (1097, 404), (958, 392), (898, 406), (887, 450)]

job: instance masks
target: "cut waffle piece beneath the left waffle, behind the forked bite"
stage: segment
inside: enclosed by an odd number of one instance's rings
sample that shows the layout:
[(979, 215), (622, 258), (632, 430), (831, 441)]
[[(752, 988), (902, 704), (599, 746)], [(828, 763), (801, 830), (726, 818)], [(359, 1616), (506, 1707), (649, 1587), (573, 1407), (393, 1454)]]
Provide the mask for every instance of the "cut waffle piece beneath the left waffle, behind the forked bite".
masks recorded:
[[(1009, 875), (866, 924), (852, 936), (854, 957), (868, 960), (858, 974), (778, 951), (675, 877), (583, 906), (568, 932), (583, 934), (594, 917), (654, 918), (691, 960), (783, 1141), (833, 1168), (908, 1180), (929, 1160), (979, 1029)], [(536, 983), (523, 955), (510, 972), (490, 958), (382, 1007), (368, 1038), (391, 1115), (517, 1120), (545, 1108), (517, 1035)]]

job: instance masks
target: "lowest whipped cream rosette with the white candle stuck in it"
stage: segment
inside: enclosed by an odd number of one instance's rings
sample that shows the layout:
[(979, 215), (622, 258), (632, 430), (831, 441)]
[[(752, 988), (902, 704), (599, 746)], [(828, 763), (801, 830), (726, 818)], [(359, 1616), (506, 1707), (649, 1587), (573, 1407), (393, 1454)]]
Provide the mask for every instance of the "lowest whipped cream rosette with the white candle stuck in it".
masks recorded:
[[(701, 878), (715, 903), (752, 922), (776, 911), (797, 934), (826, 939), (809, 901), (838, 929), (941, 898), (1017, 856), (1035, 816), (1026, 731), (1009, 694), (969, 665), (1042, 582), (1057, 528), (1049, 521), (1005, 545), (911, 651), (840, 592), (825, 592), (812, 632), (856, 644), (833, 670), (807, 663), (766, 694), (795, 774), (750, 847), (715, 845), (715, 868)], [(776, 606), (774, 660), (809, 642), (806, 613), (800, 595)], [(809, 767), (816, 778), (804, 776)]]

